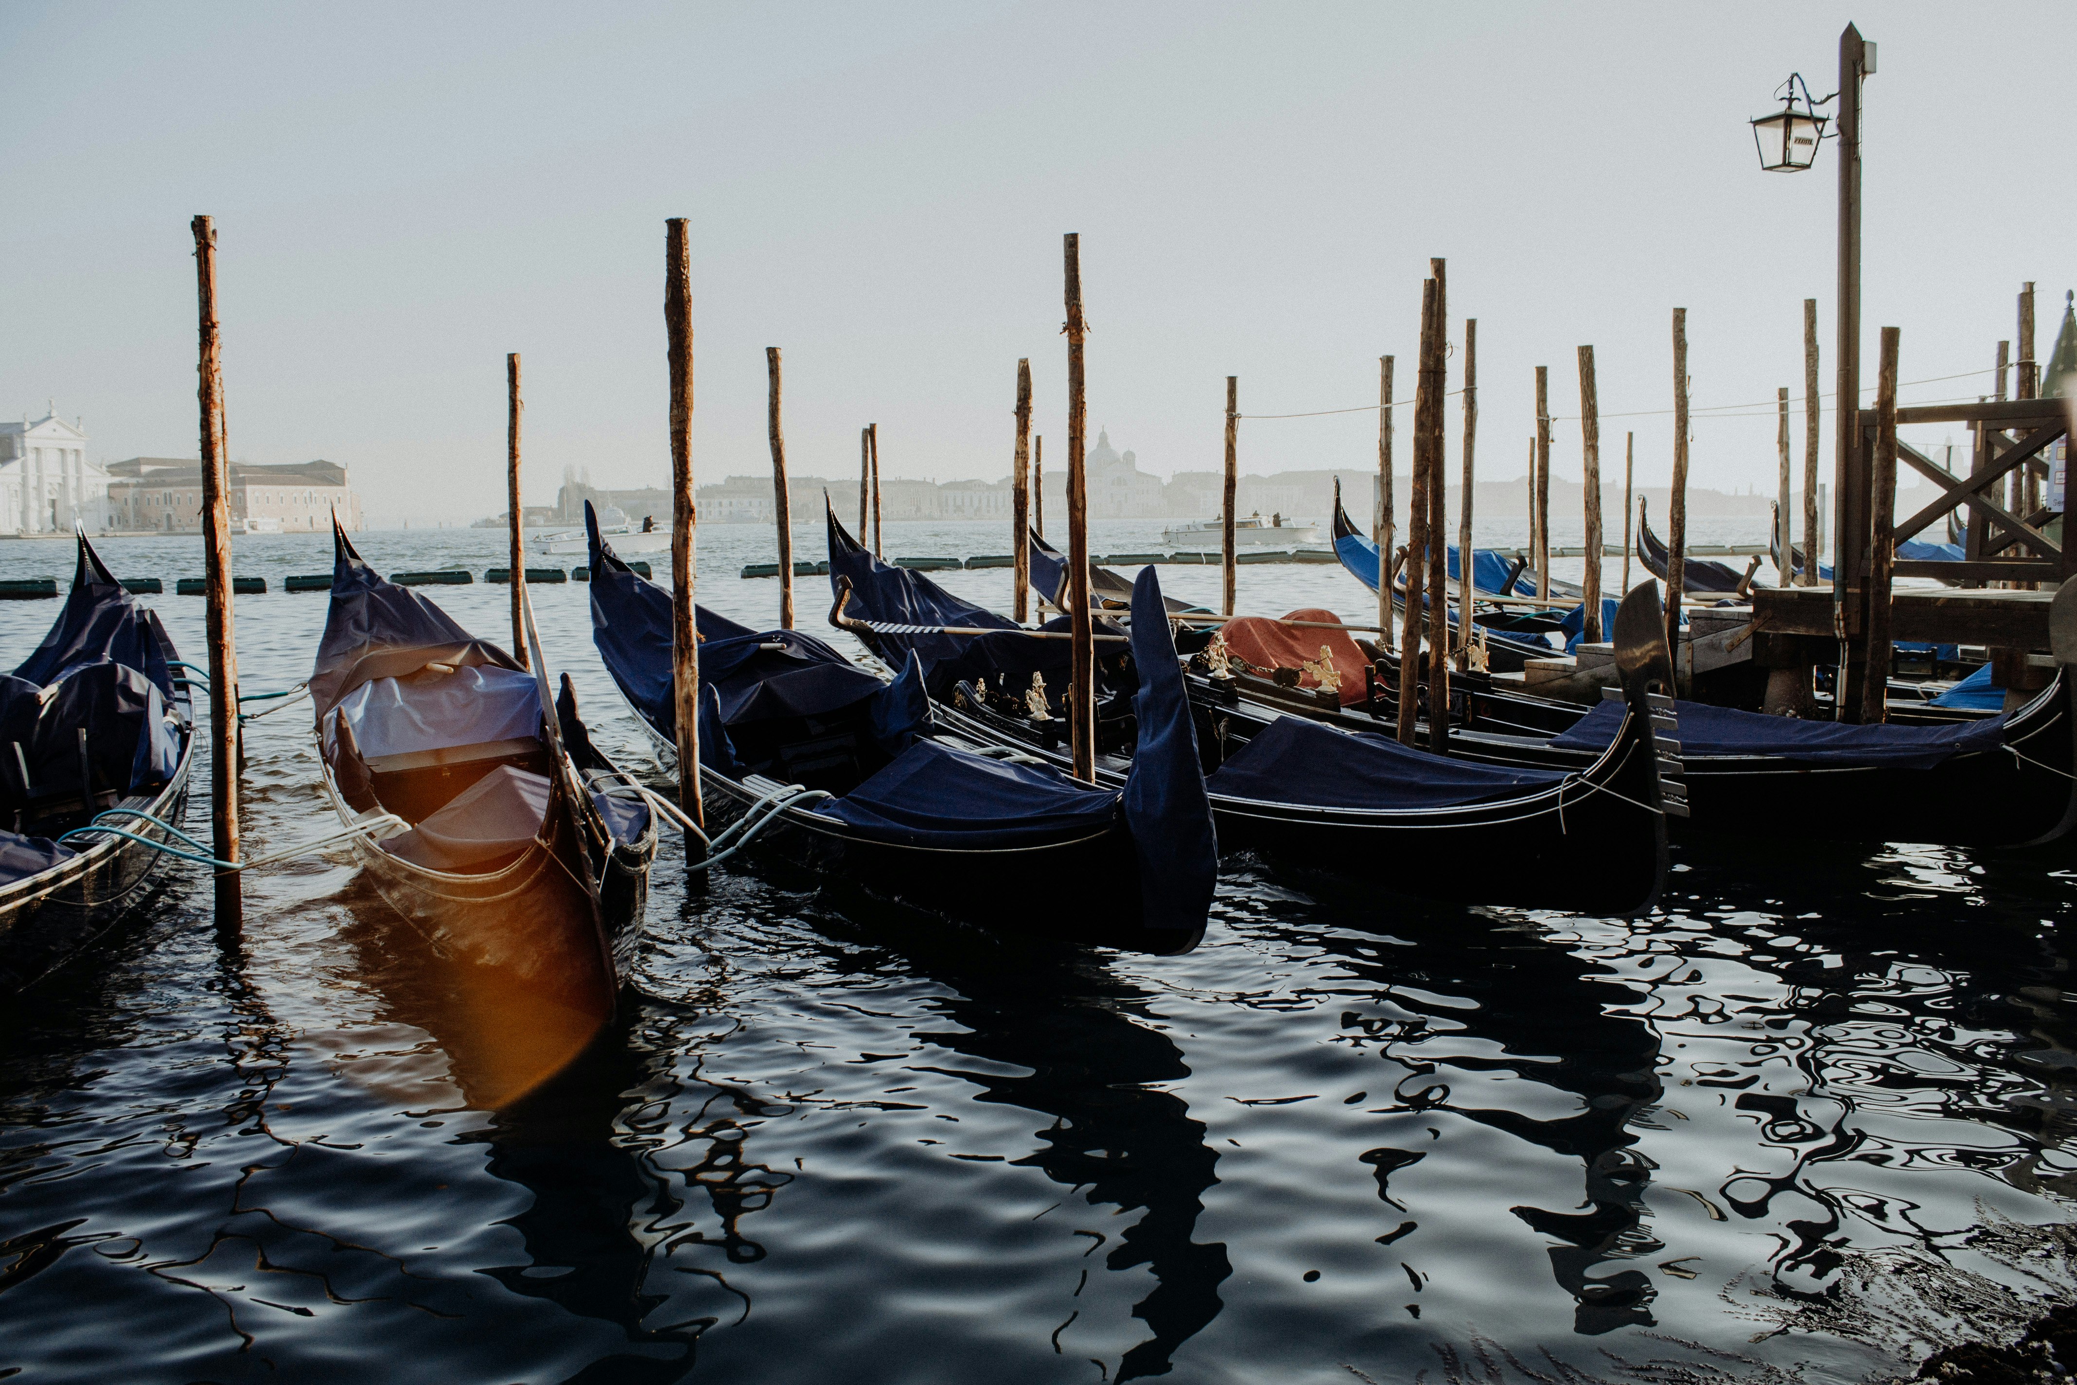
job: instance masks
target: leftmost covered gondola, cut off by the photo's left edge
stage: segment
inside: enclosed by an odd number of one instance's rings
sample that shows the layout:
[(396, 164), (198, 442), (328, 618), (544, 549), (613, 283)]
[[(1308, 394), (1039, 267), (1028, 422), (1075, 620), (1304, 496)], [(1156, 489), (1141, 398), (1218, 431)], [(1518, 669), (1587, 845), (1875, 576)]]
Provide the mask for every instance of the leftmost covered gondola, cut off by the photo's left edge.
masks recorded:
[[(79, 534), (44, 644), (0, 677), (0, 995), (35, 984), (131, 918), (187, 814), (195, 721), (158, 615)], [(66, 833), (89, 822), (116, 829)], [(141, 841), (139, 841), (141, 839)]]

